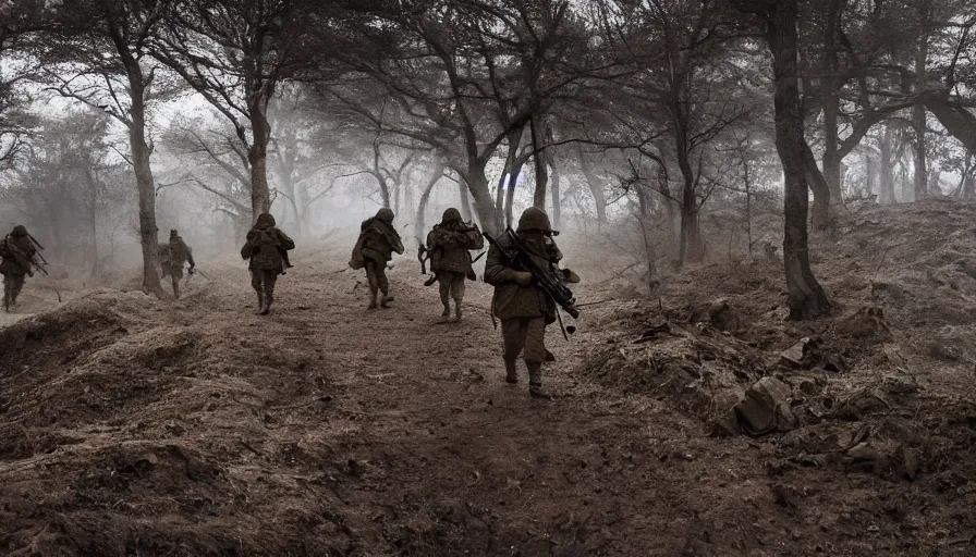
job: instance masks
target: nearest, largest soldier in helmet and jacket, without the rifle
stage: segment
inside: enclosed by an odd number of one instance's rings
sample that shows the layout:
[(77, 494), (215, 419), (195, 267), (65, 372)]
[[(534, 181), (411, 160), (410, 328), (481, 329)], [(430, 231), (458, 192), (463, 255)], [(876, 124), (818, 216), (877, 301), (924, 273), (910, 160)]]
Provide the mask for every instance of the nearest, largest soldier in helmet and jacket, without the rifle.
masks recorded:
[[(575, 273), (563, 273), (557, 263), (562, 253), (552, 240), (559, 234), (549, 224), (545, 211), (526, 209), (518, 219), (516, 231), (534, 250), (534, 259), (544, 269), (552, 269), (557, 276), (570, 276), (568, 282), (578, 282)], [(499, 239), (502, 248), (511, 247), (504, 236)], [(528, 393), (538, 398), (551, 399), (542, 389), (542, 362), (552, 359), (546, 349), (546, 326), (556, 321), (556, 302), (545, 290), (533, 284), (532, 273), (508, 267), (501, 252), (492, 246), (488, 250), (485, 282), (495, 286), (491, 311), (501, 320), (504, 343), (505, 381), (517, 383), (515, 363), (523, 354), (528, 368)]]

